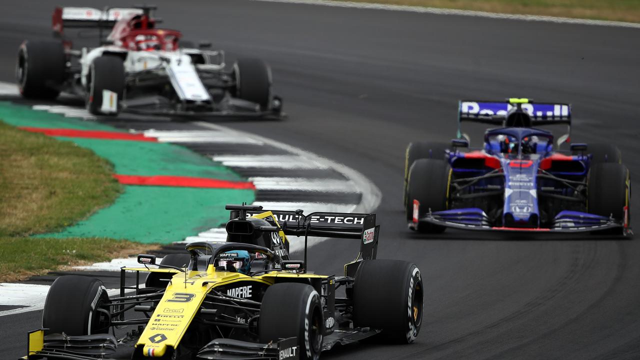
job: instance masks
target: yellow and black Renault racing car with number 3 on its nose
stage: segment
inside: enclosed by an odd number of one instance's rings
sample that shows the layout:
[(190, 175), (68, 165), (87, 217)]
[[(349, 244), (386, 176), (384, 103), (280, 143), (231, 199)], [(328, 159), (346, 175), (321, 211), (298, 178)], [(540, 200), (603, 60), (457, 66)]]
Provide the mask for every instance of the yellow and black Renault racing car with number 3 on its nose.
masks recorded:
[[(228, 205), (227, 242), (186, 245), (156, 264), (122, 268), (120, 296), (98, 279), (63, 276), (51, 286), (42, 329), (22, 359), (318, 359), (323, 350), (380, 334), (413, 343), (424, 288), (413, 263), (376, 259), (375, 214), (263, 211)], [(287, 236), (305, 238), (305, 260), (289, 258)], [(360, 240), (344, 276), (307, 272), (307, 238)], [(136, 284), (125, 284), (125, 272)], [(145, 286), (140, 274), (148, 273)], [(336, 297), (345, 287), (346, 297)], [(129, 291), (129, 293), (127, 293)], [(136, 313), (137, 311), (137, 313)], [(125, 315), (131, 318), (125, 318)], [(133, 315), (133, 316), (131, 316)], [(138, 315), (138, 316), (136, 316)], [(135, 327), (121, 338), (115, 329)]]

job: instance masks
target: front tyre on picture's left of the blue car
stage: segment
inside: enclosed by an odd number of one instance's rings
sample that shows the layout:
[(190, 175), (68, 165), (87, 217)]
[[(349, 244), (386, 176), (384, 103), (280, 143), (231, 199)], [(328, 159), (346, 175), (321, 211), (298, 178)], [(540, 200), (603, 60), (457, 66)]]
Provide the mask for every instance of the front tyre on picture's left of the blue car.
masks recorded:
[[(420, 212), (447, 209), (447, 196), (451, 183), (451, 166), (445, 160), (419, 159), (409, 169), (407, 184), (406, 220), (413, 219), (413, 200), (420, 202)], [(419, 224), (420, 233), (442, 233), (446, 227)]]

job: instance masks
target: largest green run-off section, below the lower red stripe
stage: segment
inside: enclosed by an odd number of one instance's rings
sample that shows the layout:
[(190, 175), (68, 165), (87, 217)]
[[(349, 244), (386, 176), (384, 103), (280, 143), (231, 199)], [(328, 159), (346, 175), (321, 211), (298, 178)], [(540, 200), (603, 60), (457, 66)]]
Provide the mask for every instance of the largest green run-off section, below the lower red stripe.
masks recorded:
[(229, 219), (225, 205), (253, 200), (253, 190), (125, 186), (113, 206), (60, 233), (39, 237), (106, 237), (172, 243)]

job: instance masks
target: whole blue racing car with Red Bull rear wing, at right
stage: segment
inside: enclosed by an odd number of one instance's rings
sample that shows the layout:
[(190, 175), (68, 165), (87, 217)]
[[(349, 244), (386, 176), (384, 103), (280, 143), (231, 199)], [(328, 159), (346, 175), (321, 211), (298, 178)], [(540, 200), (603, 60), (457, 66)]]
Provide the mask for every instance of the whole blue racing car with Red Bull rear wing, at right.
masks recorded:
[[(483, 148), (471, 149), (465, 121), (500, 127), (484, 131)], [(605, 143), (554, 150), (554, 135), (538, 126), (564, 124), (557, 148), (570, 141), (569, 104), (461, 101), (458, 138), (407, 148), (410, 229), (632, 234), (630, 175), (620, 150)]]

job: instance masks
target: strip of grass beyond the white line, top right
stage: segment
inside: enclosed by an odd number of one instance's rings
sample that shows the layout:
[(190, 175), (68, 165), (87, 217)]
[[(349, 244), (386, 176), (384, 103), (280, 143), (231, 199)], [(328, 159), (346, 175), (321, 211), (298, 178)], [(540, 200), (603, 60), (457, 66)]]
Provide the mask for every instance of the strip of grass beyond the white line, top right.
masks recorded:
[(640, 22), (640, 0), (337, 0)]

